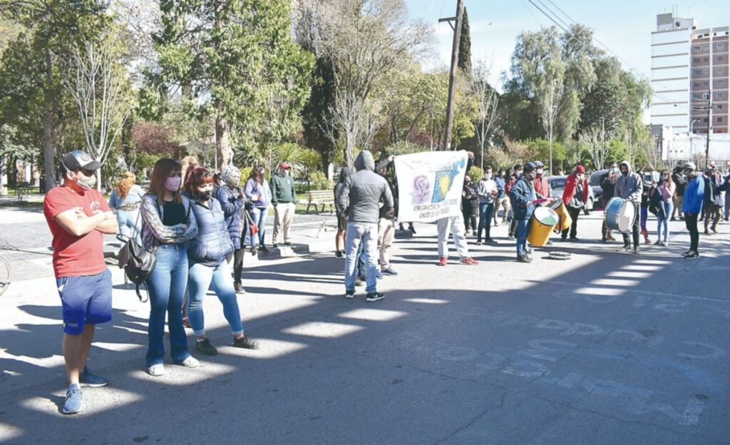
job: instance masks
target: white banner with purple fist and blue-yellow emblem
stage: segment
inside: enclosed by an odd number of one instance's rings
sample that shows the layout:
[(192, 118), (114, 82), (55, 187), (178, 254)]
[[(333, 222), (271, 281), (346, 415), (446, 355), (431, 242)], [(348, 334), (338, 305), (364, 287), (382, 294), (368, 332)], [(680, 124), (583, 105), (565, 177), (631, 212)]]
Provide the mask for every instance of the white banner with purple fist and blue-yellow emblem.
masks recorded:
[(461, 213), (466, 151), (396, 156), (398, 219), (428, 222)]

